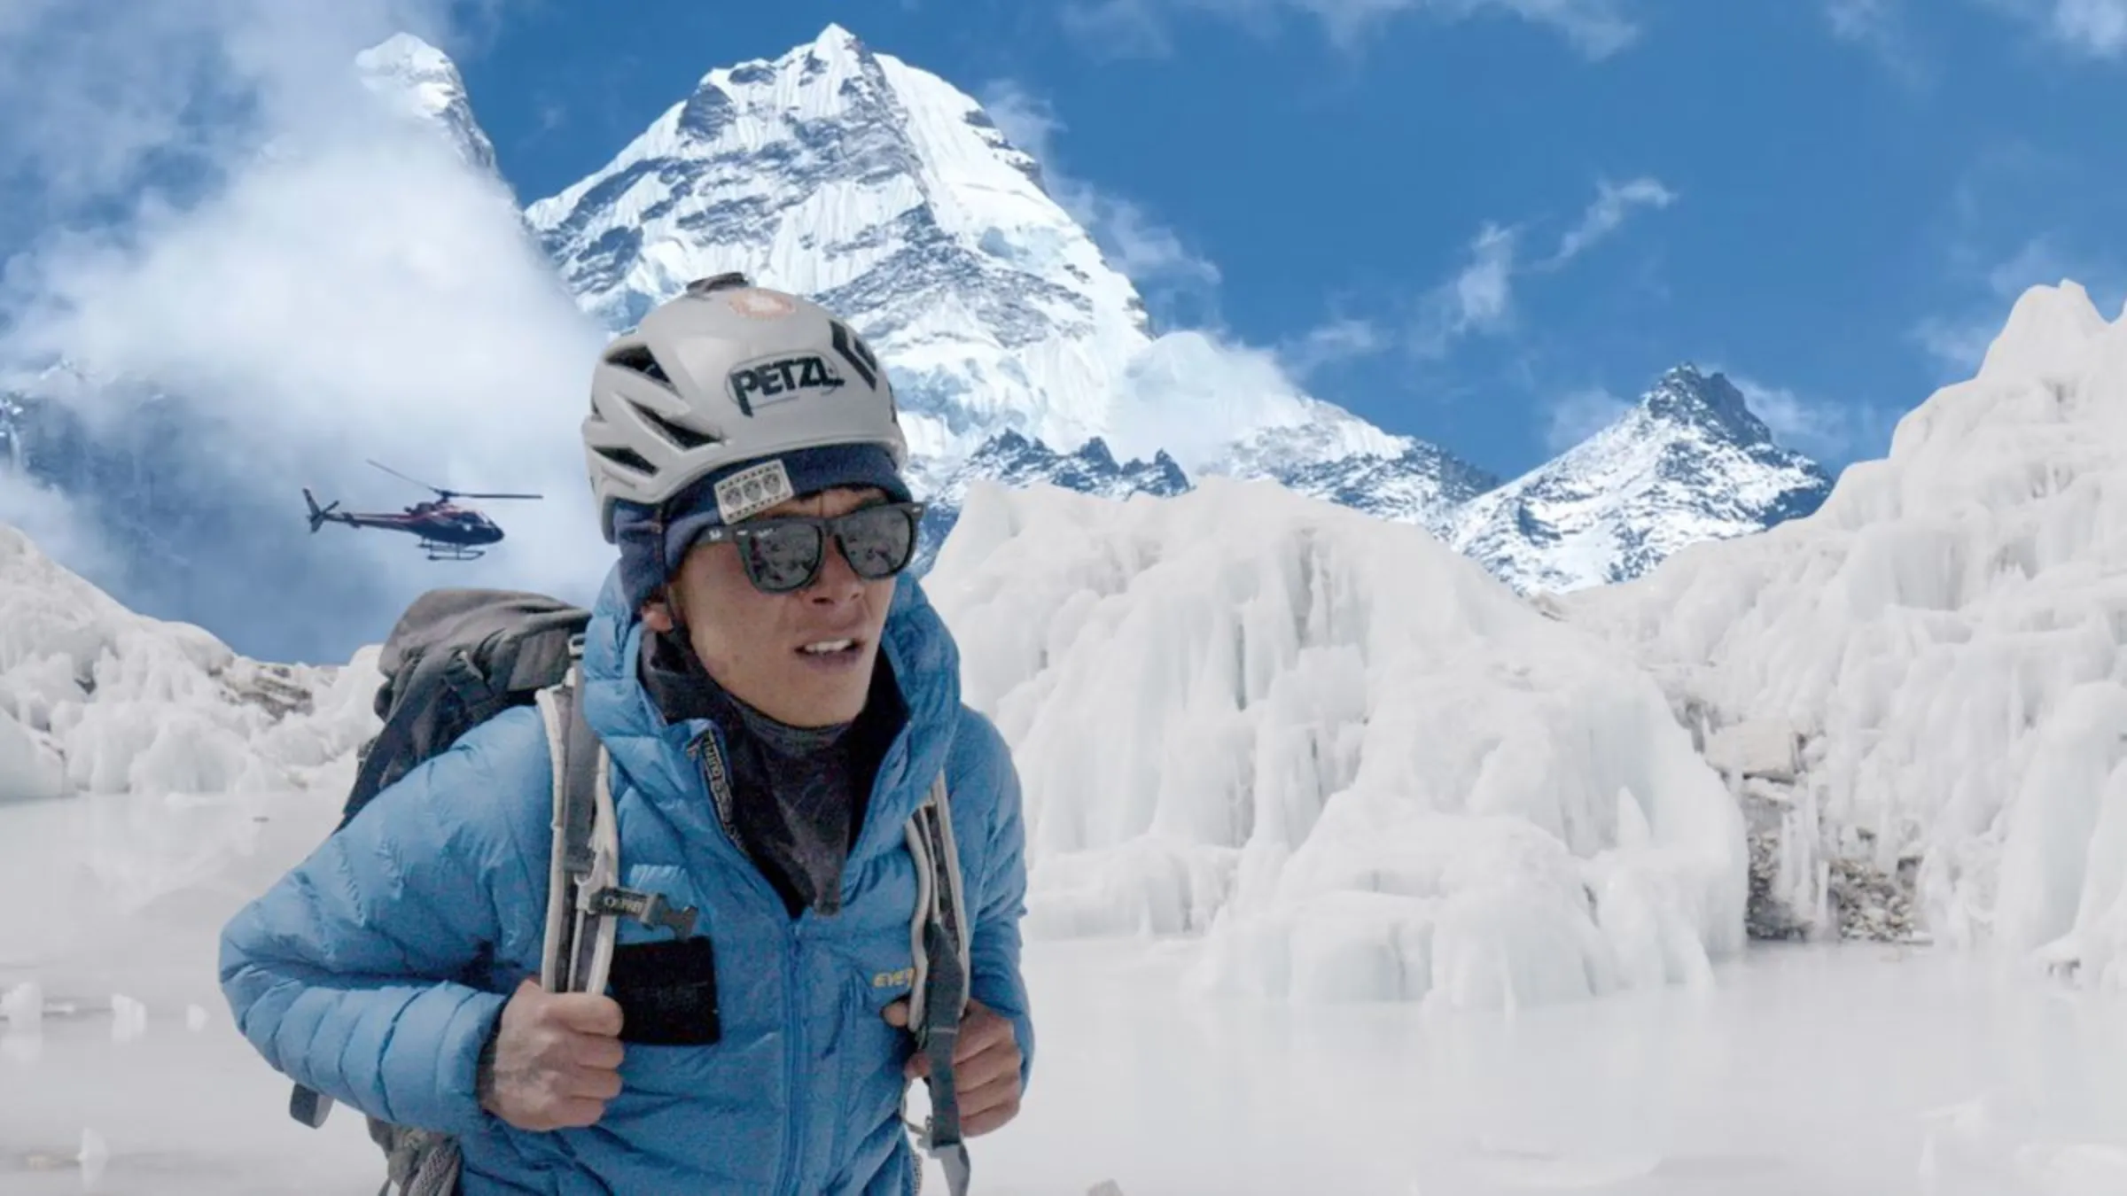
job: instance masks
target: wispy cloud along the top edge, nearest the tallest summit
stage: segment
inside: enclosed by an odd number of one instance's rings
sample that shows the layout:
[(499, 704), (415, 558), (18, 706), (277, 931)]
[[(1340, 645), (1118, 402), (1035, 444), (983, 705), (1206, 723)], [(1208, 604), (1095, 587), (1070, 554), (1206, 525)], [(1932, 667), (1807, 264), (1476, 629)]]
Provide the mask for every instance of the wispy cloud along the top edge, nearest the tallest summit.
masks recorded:
[(1087, 0), (1066, 6), (1066, 26), (1108, 53), (1172, 49), (1161, 13), (1189, 9), (1268, 30), (1285, 11), (1314, 17), (1340, 49), (1361, 49), (1378, 28), (1417, 13), (1440, 21), (1512, 15), (1546, 26), (1591, 60), (1610, 57), (1638, 40), (1627, 0)]

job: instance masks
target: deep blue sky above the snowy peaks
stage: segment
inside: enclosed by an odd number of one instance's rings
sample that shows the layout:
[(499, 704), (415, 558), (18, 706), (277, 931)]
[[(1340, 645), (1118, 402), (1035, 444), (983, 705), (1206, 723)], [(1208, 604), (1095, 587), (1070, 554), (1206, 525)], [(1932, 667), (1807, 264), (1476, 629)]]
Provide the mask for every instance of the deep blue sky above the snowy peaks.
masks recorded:
[(1880, 455), (2025, 285), (2127, 296), (2127, 0), (547, 2), (451, 49), (532, 200), (827, 21), (989, 102), (1161, 321), (1500, 472), (1680, 360)]

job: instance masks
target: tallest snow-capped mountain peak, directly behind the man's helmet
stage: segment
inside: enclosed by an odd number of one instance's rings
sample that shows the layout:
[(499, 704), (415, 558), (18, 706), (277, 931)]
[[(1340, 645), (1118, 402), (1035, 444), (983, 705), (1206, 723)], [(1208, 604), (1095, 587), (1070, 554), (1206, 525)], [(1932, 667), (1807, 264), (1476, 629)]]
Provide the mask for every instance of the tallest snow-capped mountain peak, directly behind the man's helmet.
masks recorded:
[(1002, 432), (1172, 451), (1134, 415), (1144, 402), (1161, 428), (1234, 438), (1317, 419), (1323, 404), (1289, 385), (1244, 404), (1217, 387), (1204, 411), (1204, 387), (1161, 389), (1166, 338), (1136, 285), (1040, 179), (976, 100), (827, 26), (710, 70), (527, 219), (610, 328), (725, 270), (838, 311), (887, 362), (919, 458), (957, 464)]

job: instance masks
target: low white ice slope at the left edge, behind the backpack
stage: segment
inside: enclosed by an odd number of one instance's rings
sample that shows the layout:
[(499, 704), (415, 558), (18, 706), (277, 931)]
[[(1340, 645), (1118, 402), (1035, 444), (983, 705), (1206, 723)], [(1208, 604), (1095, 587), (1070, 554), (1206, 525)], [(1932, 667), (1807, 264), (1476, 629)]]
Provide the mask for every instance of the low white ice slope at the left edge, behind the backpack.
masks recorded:
[(119, 607), (0, 524), (0, 800), (300, 787), (374, 734), (374, 649), (259, 664)]

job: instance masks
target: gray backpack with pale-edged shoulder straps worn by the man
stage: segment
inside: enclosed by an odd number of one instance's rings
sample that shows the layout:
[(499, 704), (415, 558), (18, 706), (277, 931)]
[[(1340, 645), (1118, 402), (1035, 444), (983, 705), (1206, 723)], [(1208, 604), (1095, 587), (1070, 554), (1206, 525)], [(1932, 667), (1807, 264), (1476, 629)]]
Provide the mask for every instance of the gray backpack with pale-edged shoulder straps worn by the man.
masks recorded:
[[(540, 983), (549, 992), (604, 992), (621, 917), (693, 932), (693, 909), (672, 909), (661, 894), (619, 885), (619, 830), (606, 785), (604, 745), (579, 702), (583, 630), (589, 611), (542, 594), (506, 589), (430, 589), (385, 638), (376, 662), (383, 730), (359, 749), (359, 768), (340, 811), (345, 828), (387, 785), (415, 764), (449, 749), (462, 734), (510, 707), (536, 704), (553, 751), (553, 847)], [(468, 800), (476, 800), (468, 794)], [(719, 815), (723, 811), (719, 809)], [(730, 824), (725, 830), (732, 832)], [(917, 862), (917, 904), (908, 921), (915, 985), (908, 1024), (929, 1058), (932, 1115), (912, 1126), (919, 1143), (947, 1170), (957, 1194), (968, 1190), (968, 1147), (953, 1090), (953, 1047), (968, 1004), (970, 932), (959, 879), (959, 851), (947, 785), (940, 775), (908, 819), (908, 851)], [(332, 1098), (304, 1085), (289, 1096), (289, 1115), (323, 1126)], [(385, 1151), (379, 1196), (449, 1196), (457, 1192), (457, 1143), (417, 1126), (370, 1117), (370, 1139)]]

